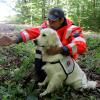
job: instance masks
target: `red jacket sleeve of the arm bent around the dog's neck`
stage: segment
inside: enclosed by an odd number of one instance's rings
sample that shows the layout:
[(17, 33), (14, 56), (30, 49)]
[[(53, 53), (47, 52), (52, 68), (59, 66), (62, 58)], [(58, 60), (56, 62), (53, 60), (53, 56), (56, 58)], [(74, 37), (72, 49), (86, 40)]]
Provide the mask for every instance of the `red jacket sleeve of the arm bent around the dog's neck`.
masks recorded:
[(82, 30), (79, 26), (72, 25), (66, 32), (66, 39), (68, 40), (69, 53), (72, 56), (83, 54), (86, 51), (86, 41), (83, 37)]

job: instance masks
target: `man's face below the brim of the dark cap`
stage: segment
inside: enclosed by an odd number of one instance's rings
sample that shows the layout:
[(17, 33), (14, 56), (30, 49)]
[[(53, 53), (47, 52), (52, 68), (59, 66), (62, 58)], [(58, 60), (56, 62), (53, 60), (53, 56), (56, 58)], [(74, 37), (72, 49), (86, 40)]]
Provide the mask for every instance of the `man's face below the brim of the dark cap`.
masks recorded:
[(61, 24), (63, 23), (64, 19), (63, 18), (57, 19), (55, 21), (48, 19), (48, 21), (49, 21), (50, 28), (57, 30), (61, 26)]

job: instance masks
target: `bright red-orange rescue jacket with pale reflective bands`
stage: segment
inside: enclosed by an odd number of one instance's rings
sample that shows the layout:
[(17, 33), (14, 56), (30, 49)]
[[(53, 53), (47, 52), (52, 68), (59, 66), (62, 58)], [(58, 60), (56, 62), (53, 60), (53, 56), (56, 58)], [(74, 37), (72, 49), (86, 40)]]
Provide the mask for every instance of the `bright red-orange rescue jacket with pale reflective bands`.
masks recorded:
[[(57, 30), (58, 36), (64, 46), (69, 48), (70, 55), (77, 59), (78, 54), (83, 54), (86, 51), (86, 41), (82, 34), (82, 29), (79, 26), (73, 25), (72, 21), (66, 19), (67, 25)], [(25, 29), (20, 32), (23, 42), (36, 39), (40, 35), (40, 30), (48, 27), (48, 22), (45, 21), (38, 28)]]

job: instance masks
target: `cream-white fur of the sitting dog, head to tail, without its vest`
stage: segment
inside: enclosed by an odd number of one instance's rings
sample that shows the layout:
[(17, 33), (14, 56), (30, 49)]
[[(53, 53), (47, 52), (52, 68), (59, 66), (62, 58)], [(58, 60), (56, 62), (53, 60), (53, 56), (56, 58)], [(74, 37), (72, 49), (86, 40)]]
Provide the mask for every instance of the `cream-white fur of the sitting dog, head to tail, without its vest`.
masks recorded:
[[(41, 31), (39, 38), (37, 38), (38, 46), (42, 47), (42, 60), (47, 62), (46, 65), (42, 67), (42, 69), (46, 72), (47, 76), (42, 83), (38, 83), (39, 86), (43, 86), (48, 83), (47, 89), (40, 94), (40, 96), (44, 96), (48, 93), (53, 92), (57, 88), (63, 86), (63, 82), (68, 85), (72, 85), (75, 89), (79, 88), (96, 88), (96, 81), (87, 80), (86, 74), (82, 71), (79, 65), (72, 59), (70, 56), (66, 57), (62, 54), (57, 55), (47, 55), (46, 50), (51, 46), (61, 47), (62, 44), (59, 40), (59, 37), (56, 31), (46, 28)], [(70, 73), (66, 79), (66, 74), (61, 67), (60, 63), (52, 64), (50, 62), (56, 61), (67, 61), (71, 62), (71, 66), (74, 66), (74, 70)], [(66, 67), (70, 67), (67, 64), (64, 65)], [(65, 80), (66, 79), (66, 80)], [(65, 81), (64, 81), (65, 80)]]

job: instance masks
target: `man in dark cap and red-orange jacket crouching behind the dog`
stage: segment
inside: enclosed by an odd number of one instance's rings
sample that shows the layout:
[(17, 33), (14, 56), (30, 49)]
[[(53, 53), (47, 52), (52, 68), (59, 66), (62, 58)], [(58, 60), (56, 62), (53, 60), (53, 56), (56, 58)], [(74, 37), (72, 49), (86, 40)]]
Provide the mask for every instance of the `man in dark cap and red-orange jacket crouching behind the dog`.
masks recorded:
[[(77, 59), (78, 54), (82, 54), (86, 51), (86, 41), (84, 40), (81, 28), (74, 25), (69, 19), (66, 19), (62, 9), (50, 9), (47, 18), (48, 20), (40, 27), (25, 29), (13, 40), (7, 36), (2, 37), (0, 39), (0, 45), (27, 42), (28, 40), (37, 38), (42, 29), (50, 27), (57, 31), (63, 47), (51, 47), (47, 50), (49, 55), (61, 53), (66, 56), (70, 55), (72, 58)], [(36, 54), (41, 55), (41, 51), (37, 49)], [(45, 73), (41, 70), (41, 67), (45, 62), (42, 62), (42, 59), (37, 55), (35, 58), (35, 69), (38, 75), (38, 81), (43, 81)]]

